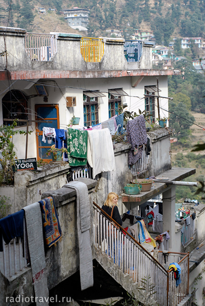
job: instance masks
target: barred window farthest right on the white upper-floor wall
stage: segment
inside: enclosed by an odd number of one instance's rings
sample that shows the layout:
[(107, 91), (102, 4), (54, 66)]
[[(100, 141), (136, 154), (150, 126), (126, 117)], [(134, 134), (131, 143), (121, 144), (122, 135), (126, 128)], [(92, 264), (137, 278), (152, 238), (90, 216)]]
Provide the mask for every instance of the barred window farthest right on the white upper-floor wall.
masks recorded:
[[(151, 114), (149, 120), (151, 122), (155, 122), (155, 93), (158, 91), (157, 86), (145, 86), (144, 93), (145, 93), (145, 111), (148, 114)], [(159, 91), (161, 91), (159, 89)]]

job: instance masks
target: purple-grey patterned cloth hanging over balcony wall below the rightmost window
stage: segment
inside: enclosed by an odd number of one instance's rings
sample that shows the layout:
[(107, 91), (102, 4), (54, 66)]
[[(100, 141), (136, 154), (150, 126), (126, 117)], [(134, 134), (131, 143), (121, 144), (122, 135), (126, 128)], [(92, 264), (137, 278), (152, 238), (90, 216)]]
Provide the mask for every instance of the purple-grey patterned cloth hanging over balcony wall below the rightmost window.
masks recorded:
[(127, 122), (126, 136), (127, 142), (132, 144), (131, 150), (128, 152), (128, 163), (129, 165), (133, 165), (142, 158), (142, 145), (147, 143), (146, 126), (143, 115), (135, 117)]

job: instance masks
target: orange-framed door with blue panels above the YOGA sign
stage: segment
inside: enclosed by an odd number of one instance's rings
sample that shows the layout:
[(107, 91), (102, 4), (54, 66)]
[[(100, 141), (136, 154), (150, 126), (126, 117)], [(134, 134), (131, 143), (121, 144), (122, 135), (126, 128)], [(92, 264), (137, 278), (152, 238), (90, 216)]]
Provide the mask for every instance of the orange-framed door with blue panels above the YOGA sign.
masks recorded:
[[(45, 162), (52, 161), (50, 156), (46, 156), (47, 150), (55, 144), (55, 141), (48, 144), (42, 141), (43, 127), (53, 127), (54, 129), (59, 129), (59, 106), (58, 104), (36, 104), (36, 120), (42, 122), (36, 122), (36, 145), (37, 145), (37, 160), (44, 160)], [(48, 121), (48, 122), (45, 122)]]

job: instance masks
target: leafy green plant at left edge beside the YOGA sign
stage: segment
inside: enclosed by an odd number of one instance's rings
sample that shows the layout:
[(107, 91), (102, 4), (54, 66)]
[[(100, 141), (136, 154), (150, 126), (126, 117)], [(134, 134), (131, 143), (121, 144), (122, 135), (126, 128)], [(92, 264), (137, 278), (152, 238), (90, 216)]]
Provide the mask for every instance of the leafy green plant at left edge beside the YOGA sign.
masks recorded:
[[(14, 120), (11, 125), (0, 125), (0, 184), (13, 184), (14, 173), (12, 167), (15, 165), (15, 160), (17, 159), (13, 136), (18, 133), (26, 134), (25, 131), (14, 130), (16, 126), (17, 120)], [(29, 132), (29, 134), (31, 133)]]

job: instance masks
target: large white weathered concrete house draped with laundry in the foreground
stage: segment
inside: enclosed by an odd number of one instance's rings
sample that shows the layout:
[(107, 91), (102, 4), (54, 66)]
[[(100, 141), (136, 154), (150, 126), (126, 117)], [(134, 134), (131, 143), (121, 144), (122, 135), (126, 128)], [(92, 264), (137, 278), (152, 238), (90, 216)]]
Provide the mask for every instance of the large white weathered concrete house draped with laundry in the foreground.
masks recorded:
[[(6, 52), (3, 47), (4, 37)], [(0, 62), (1, 66), (6, 68), (0, 72), (2, 108), (0, 123), (9, 124), (14, 118), (25, 120), (18, 123), (21, 130), (26, 130), (28, 126), (28, 129), (33, 131), (28, 137), (28, 158), (37, 157), (46, 160), (45, 152), (49, 145), (45, 146), (42, 143), (42, 127), (46, 123), (49, 127), (66, 129), (73, 115), (80, 118), (80, 126), (92, 126), (117, 114), (117, 106), (126, 103), (129, 111), (138, 113), (138, 109), (141, 111), (146, 109), (151, 114), (152, 122), (155, 122), (158, 116), (158, 110), (155, 108), (157, 78), (160, 96), (163, 97), (163, 109), (160, 109), (160, 114), (162, 117), (167, 116), (167, 76), (178, 74), (180, 71), (152, 69), (151, 42), (125, 41), (119, 38), (84, 38), (81, 35), (67, 33), (45, 34), (41, 38), (43, 38), (41, 42), (47, 41), (47, 44), (40, 44), (35, 34), (27, 33), (23, 29), (0, 28), (2, 46), (0, 52), (4, 55), (0, 58)], [(7, 62), (6, 67), (5, 62)], [(28, 122), (28, 125), (25, 126), (24, 122)], [(144, 179), (151, 175), (163, 175), (168, 176), (171, 181), (181, 181), (195, 173), (195, 169), (171, 168), (170, 136), (171, 129), (168, 127), (149, 132), (150, 157), (147, 158), (143, 148), (142, 158), (134, 167), (130, 167), (127, 162), (130, 144), (116, 144), (115, 171), (102, 172), (95, 177), (95, 180), (87, 177), (85, 172), (79, 171), (74, 173), (76, 175), (73, 174), (72, 179), (82, 181), (88, 187), (92, 216), (90, 235), (93, 237), (91, 241), (93, 260), (96, 260), (124, 290), (130, 294), (133, 292), (140, 300), (142, 296), (139, 295), (137, 288), (142, 285), (142, 278), (148, 277), (151, 271), (151, 282), (157, 289), (155, 299), (160, 306), (175, 306), (180, 303), (191, 306), (193, 299), (191, 284), (195, 277), (193, 275), (199, 274), (197, 269), (201, 268), (203, 258), (199, 256), (197, 261), (200, 265), (197, 268), (193, 264), (190, 271), (188, 251), (194, 250), (197, 243), (204, 240), (205, 233), (200, 231), (200, 235), (193, 240), (190, 240), (190, 235), (186, 236), (186, 245), (182, 245), (182, 226), (175, 222), (175, 185), (160, 182), (153, 184), (150, 191), (136, 196), (123, 193), (123, 187), (134, 177)], [(13, 141), (18, 149), (18, 158), (25, 158), (25, 137), (15, 135)], [(12, 191), (15, 203), (12, 213), (47, 196), (53, 196), (55, 199), (64, 236), (56, 247), (46, 249), (45, 269), (50, 291), (79, 271), (76, 193), (63, 187), (70, 167), (68, 163), (60, 162), (55, 168), (50, 169), (48, 164), (37, 173), (30, 171), (15, 173), (15, 187)], [(127, 211), (133, 215), (139, 214), (141, 205), (162, 194), (163, 231), (169, 231), (170, 258), (182, 265), (182, 286), (178, 289), (175, 289), (172, 273), (163, 266), (162, 253), (156, 260), (136, 241), (126, 237), (123, 238), (127, 247), (126, 260), (119, 256), (118, 265), (114, 262), (113, 253), (105, 252), (105, 245), (102, 245), (99, 236), (102, 234), (99, 219), (105, 220), (100, 214), (100, 207), (111, 191), (120, 195), (121, 215)], [(93, 201), (99, 208), (92, 206)], [(197, 217), (203, 222), (203, 210)], [(105, 222), (108, 223), (107, 220)], [(117, 241), (122, 242), (122, 237), (118, 232)], [(13, 247), (5, 247), (5, 260), (1, 261), (2, 294), (4, 297), (22, 293), (24, 296), (32, 296), (31, 267), (27, 267), (24, 259), (20, 257), (20, 250), (19, 255), (18, 253), (16, 255), (20, 262), (17, 266), (15, 260), (13, 261), (9, 255), (6, 256), (7, 251), (11, 254)], [(24, 262), (22, 266), (21, 259)], [(11, 266), (10, 271), (8, 266)], [(23, 266), (25, 268), (22, 268)], [(131, 269), (135, 275), (132, 275)], [(192, 275), (190, 286), (189, 271)], [(29, 302), (24, 301), (22, 306), (24, 305), (29, 305)]]

